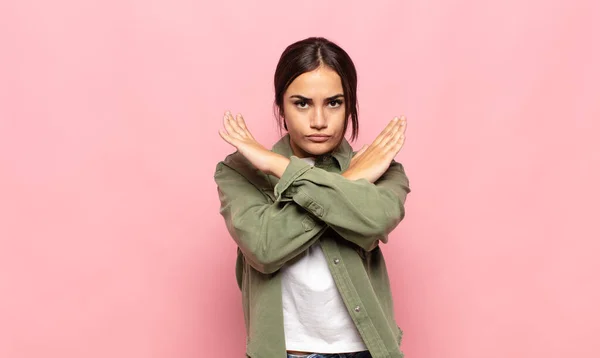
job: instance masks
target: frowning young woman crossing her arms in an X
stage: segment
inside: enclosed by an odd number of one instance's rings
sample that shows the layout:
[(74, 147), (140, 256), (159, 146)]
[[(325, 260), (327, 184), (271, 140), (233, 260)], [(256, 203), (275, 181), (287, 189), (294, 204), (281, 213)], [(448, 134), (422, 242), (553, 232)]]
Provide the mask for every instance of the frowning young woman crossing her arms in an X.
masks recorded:
[(275, 70), (275, 108), (287, 133), (272, 150), (241, 115), (220, 136), (237, 151), (219, 162), (221, 215), (238, 245), (246, 355), (402, 357), (380, 243), (404, 217), (410, 189), (394, 157), (406, 120), (394, 118), (358, 153), (357, 76), (324, 38), (288, 46)]

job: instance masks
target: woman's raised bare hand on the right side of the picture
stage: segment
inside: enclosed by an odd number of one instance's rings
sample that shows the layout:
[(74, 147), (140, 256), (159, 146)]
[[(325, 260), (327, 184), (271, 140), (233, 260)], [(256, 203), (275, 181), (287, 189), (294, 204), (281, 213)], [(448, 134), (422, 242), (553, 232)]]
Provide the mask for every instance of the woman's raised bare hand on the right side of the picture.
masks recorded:
[(371, 183), (377, 181), (402, 149), (405, 132), (406, 118), (402, 116), (392, 119), (373, 143), (356, 153), (342, 175), (350, 180), (366, 179)]

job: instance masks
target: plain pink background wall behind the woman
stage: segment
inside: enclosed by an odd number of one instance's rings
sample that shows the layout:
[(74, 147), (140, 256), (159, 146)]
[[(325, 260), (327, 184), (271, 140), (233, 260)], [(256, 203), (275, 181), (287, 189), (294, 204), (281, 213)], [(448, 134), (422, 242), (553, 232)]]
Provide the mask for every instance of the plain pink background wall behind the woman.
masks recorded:
[(250, 3), (0, 3), (0, 357), (242, 356), (217, 130), (277, 140), (311, 35), (356, 62), (355, 147), (409, 120), (407, 357), (597, 356), (600, 3)]

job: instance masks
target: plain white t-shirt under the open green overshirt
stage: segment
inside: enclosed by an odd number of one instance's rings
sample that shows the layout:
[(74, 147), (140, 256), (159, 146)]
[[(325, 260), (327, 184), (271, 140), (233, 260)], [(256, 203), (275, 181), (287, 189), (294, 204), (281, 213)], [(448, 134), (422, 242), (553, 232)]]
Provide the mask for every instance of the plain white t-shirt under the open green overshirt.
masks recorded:
[[(314, 158), (303, 158), (314, 165)], [(344, 353), (367, 350), (344, 305), (318, 243), (281, 268), (287, 350)]]

